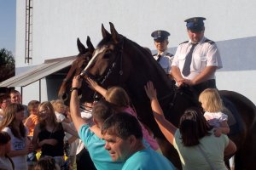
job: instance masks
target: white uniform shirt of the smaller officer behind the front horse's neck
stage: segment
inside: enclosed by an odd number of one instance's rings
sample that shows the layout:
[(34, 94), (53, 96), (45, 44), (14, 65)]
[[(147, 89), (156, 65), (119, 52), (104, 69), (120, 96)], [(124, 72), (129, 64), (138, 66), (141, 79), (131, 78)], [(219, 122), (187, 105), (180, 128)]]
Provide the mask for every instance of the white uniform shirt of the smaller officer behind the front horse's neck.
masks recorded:
[[(166, 72), (166, 74), (170, 74), (171, 73), (171, 68), (172, 68), (172, 59), (173, 59), (173, 56), (170, 57), (167, 54), (167, 51), (165, 52), (162, 52), (160, 55), (161, 55), (161, 58), (160, 60), (158, 61), (158, 63), (161, 65), (161, 67), (164, 69), (164, 71)], [(158, 54), (155, 54), (154, 56), (154, 59), (157, 60), (158, 59)]]

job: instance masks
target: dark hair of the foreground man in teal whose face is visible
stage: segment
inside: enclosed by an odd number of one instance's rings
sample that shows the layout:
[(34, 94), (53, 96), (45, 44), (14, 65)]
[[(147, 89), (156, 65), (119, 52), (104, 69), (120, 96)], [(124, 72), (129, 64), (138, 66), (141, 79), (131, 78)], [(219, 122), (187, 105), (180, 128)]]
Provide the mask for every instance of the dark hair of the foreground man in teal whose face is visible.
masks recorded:
[(102, 125), (102, 134), (105, 133), (116, 135), (121, 139), (127, 139), (131, 135), (143, 139), (143, 130), (137, 118), (125, 112), (108, 117)]

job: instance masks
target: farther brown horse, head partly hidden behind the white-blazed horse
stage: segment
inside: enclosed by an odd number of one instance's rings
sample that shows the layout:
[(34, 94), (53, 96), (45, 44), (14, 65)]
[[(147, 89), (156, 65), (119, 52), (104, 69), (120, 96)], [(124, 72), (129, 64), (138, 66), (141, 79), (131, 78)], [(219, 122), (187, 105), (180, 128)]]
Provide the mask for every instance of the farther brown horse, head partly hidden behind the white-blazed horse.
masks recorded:
[[(65, 101), (66, 105), (69, 105), (69, 97), (70, 92), (69, 89), (71, 88), (72, 79), (74, 76), (77, 76), (81, 73), (82, 69), (88, 64), (95, 48), (93, 44), (90, 42), (90, 37), (87, 37), (86, 45), (88, 48), (84, 47), (84, 44), (80, 42), (79, 38), (77, 40), (77, 45), (79, 48), (79, 54), (77, 56), (77, 59), (75, 59), (71, 65), (71, 68), (67, 72), (67, 76), (63, 79), (63, 82), (61, 83), (61, 88), (58, 92), (58, 97), (60, 99), (63, 99)], [(83, 87), (87, 87), (86, 82), (83, 81)], [(81, 94), (86, 94), (87, 96), (91, 96), (93, 92), (86, 90), (89, 88), (83, 88), (81, 91)], [(87, 93), (85, 93), (85, 90)], [(84, 102), (84, 99), (90, 99), (90, 97), (82, 96), (81, 102)]]

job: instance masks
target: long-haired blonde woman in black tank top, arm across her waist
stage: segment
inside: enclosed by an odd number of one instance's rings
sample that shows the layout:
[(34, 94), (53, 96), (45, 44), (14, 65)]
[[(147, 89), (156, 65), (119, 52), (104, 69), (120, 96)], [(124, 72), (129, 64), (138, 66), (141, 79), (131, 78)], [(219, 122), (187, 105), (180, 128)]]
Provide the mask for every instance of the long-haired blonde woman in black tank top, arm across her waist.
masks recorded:
[(64, 131), (78, 137), (65, 122), (56, 122), (53, 106), (45, 101), (38, 106), (39, 123), (36, 125), (32, 144), (41, 148), (41, 157), (52, 156), (57, 164), (64, 168)]

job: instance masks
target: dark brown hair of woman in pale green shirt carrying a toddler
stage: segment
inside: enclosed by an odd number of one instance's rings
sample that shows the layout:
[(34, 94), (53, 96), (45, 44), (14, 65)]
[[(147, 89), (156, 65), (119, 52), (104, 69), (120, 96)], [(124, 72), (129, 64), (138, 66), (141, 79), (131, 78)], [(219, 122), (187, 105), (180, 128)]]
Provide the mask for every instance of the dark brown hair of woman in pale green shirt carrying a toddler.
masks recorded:
[(185, 146), (199, 144), (199, 139), (210, 135), (211, 129), (203, 113), (197, 108), (186, 110), (180, 118), (179, 130)]

